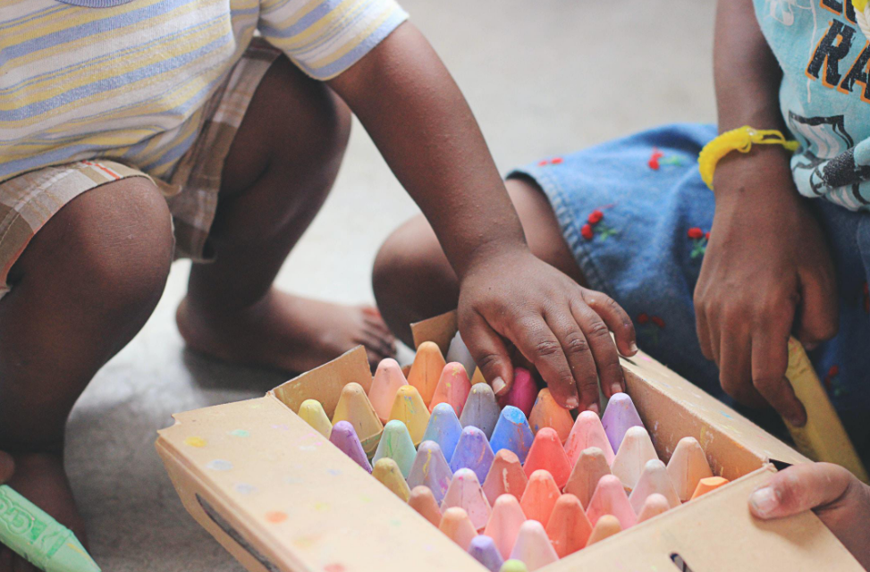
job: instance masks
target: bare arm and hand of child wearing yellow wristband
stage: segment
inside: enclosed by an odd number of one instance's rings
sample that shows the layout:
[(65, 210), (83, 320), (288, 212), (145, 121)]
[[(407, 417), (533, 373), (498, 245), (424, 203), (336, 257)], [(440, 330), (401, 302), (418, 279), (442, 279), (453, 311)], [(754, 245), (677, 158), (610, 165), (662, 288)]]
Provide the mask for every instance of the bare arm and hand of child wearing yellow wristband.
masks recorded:
[[(783, 129), (781, 70), (751, 0), (721, 0), (714, 71), (719, 130)], [(785, 379), (792, 330), (807, 345), (837, 332), (837, 294), (824, 235), (779, 146), (731, 153), (716, 168), (716, 212), (695, 290), (697, 334), (722, 389), (766, 400), (794, 425), (806, 412)]]

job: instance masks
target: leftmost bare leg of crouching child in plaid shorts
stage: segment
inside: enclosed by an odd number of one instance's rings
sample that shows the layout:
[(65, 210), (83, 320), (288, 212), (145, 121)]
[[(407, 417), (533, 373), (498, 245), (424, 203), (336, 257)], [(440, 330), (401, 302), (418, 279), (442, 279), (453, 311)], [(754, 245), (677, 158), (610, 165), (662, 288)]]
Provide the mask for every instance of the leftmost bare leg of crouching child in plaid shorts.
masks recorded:
[[(156, 187), (144, 178), (107, 183), (37, 232), (0, 300), (0, 450), (16, 461), (9, 484), (82, 540), (63, 473), (63, 427), (97, 370), (148, 320), (172, 252)], [(12, 562), (0, 547), (0, 570), (31, 569)]]

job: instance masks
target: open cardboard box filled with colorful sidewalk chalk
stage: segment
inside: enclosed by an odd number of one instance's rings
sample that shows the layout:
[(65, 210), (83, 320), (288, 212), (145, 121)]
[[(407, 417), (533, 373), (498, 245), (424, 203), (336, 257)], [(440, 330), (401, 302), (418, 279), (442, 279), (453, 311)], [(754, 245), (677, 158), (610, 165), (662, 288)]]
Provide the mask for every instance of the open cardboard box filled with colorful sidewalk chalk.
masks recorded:
[(772, 461), (807, 458), (645, 354), (599, 418), (521, 369), (496, 400), (452, 313), (413, 331), (407, 378), (358, 348), (159, 432), (184, 507), (250, 572), (862, 569), (812, 513), (754, 520)]

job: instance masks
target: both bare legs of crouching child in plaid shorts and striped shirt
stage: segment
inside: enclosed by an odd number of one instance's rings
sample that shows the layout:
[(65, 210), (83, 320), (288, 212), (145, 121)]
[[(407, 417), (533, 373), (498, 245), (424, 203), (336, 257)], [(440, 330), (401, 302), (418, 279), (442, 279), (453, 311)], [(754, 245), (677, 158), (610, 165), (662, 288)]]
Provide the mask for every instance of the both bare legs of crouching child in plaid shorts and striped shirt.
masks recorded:
[[(195, 265), (178, 324), (216, 357), (300, 371), (358, 343), (392, 354), (374, 308), (284, 294), (275, 274), (323, 204), (350, 114), (286, 59), (258, 87), (224, 166), (218, 260)], [(9, 483), (85, 542), (63, 471), (63, 429), (94, 374), (148, 320), (163, 292), (173, 238), (164, 198), (146, 179), (92, 189), (46, 223), (13, 266), (0, 300), (0, 450)], [(120, 517), (120, 516), (119, 516)], [(33, 568), (0, 547), (0, 572)]]

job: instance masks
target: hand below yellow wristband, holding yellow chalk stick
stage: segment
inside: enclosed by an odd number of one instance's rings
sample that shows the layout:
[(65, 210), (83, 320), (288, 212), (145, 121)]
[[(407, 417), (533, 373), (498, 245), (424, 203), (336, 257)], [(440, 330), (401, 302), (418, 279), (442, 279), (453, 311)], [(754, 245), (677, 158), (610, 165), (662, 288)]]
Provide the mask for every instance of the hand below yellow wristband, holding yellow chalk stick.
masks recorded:
[(697, 335), (722, 389), (766, 400), (792, 425), (807, 413), (785, 378), (792, 331), (805, 344), (837, 332), (831, 255), (781, 150), (729, 156), (716, 170), (716, 212), (695, 289)]

